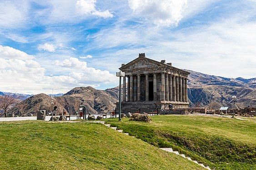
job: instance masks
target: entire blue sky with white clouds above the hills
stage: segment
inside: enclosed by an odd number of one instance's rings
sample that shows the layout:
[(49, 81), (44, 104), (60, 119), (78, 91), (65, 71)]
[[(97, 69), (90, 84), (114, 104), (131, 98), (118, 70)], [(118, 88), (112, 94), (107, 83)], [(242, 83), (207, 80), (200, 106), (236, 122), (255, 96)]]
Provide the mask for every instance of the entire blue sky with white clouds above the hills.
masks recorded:
[(0, 0), (1, 92), (115, 87), (139, 53), (255, 78), (256, 0)]

